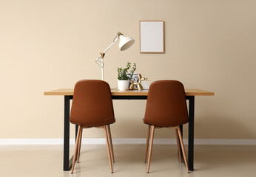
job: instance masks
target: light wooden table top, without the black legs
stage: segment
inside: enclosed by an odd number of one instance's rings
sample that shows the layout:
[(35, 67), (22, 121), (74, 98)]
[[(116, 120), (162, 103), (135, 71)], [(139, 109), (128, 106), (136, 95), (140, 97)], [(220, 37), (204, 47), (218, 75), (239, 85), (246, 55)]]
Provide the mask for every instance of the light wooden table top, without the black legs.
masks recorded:
[[(185, 89), (186, 96), (212, 96), (215, 95), (212, 91), (201, 89)], [(53, 91), (44, 91), (44, 95), (73, 95), (74, 89), (56, 89)], [(112, 96), (147, 96), (148, 90), (131, 90), (119, 91), (118, 89), (111, 90)]]

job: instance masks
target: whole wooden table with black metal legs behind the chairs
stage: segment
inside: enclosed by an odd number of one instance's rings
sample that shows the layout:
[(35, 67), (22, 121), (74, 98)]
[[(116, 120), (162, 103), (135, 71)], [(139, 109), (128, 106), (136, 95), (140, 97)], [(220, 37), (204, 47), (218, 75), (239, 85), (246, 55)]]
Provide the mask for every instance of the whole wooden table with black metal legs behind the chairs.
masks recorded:
[[(44, 95), (61, 95), (64, 96), (64, 171), (70, 170), (73, 157), (70, 159), (70, 100), (73, 99), (74, 89), (57, 89), (45, 91)], [(148, 91), (118, 91), (114, 89), (112, 100), (146, 100)], [(194, 119), (195, 119), (195, 96), (211, 96), (212, 91), (201, 89), (185, 89), (186, 100), (189, 100), (189, 150), (188, 162), (189, 170), (194, 170)], [(75, 137), (77, 135), (78, 125), (75, 126)], [(182, 126), (181, 126), (182, 132)]]

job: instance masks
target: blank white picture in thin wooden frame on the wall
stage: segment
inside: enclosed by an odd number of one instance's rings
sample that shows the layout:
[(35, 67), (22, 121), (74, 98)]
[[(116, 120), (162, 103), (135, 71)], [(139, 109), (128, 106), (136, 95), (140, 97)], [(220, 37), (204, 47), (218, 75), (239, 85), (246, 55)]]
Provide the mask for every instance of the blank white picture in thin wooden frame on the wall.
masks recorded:
[(164, 53), (164, 21), (140, 21), (140, 52)]

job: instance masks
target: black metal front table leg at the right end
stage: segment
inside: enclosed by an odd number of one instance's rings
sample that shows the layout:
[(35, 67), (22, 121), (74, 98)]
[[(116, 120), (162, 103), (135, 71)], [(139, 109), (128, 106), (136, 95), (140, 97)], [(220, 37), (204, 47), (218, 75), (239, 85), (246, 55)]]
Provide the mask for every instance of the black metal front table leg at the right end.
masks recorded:
[(189, 171), (194, 170), (195, 96), (189, 96)]

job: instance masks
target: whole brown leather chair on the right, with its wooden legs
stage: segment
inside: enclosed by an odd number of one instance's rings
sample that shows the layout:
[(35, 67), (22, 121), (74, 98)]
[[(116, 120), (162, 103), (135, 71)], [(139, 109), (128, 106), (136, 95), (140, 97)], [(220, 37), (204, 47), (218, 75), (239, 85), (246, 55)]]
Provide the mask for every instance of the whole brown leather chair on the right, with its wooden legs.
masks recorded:
[(148, 132), (146, 137), (146, 158), (149, 146), (149, 133), (151, 129), (149, 159), (146, 173), (149, 173), (155, 128), (175, 129), (179, 159), (181, 162), (182, 149), (186, 170), (189, 173), (180, 129), (180, 125), (183, 125), (188, 121), (189, 117), (186, 108), (186, 95), (183, 84), (177, 80), (159, 80), (152, 83), (149, 87), (149, 94), (146, 102), (146, 113), (144, 117), (144, 123), (148, 125)]

